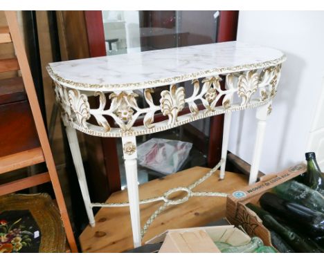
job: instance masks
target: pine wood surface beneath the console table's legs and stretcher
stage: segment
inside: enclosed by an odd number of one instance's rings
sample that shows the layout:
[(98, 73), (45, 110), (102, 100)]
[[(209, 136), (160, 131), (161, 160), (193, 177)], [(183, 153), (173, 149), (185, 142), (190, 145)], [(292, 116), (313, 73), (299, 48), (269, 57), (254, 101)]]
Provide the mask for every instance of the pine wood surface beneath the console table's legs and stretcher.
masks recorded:
[[(188, 186), (204, 176), (210, 169), (194, 167), (165, 178), (152, 180), (139, 186), (141, 199), (161, 196), (168, 189)], [(219, 180), (219, 171), (193, 191), (233, 191), (247, 185), (247, 179), (239, 173), (226, 172), (224, 180)], [(112, 194), (107, 202), (127, 201), (127, 191)], [(141, 227), (163, 202), (141, 205)], [(192, 197), (181, 205), (171, 205), (158, 216), (149, 227), (143, 242), (164, 232), (166, 229), (197, 227), (206, 225), (225, 216), (226, 198)], [(80, 235), (82, 252), (124, 252), (132, 249), (133, 238), (128, 207), (101, 208), (95, 216), (96, 227), (89, 225)]]

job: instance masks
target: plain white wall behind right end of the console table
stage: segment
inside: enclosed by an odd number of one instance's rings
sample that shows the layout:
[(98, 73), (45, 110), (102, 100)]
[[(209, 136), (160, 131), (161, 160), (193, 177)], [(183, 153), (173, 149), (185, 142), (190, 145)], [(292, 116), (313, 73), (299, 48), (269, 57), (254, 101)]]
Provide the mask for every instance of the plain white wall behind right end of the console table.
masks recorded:
[[(303, 161), (310, 150), (307, 138), (323, 87), (323, 26), (324, 12), (319, 11), (240, 11), (238, 41), (278, 48), (287, 55), (264, 137), (264, 173)], [(231, 124), (229, 151), (251, 163), (255, 109), (233, 113)]]

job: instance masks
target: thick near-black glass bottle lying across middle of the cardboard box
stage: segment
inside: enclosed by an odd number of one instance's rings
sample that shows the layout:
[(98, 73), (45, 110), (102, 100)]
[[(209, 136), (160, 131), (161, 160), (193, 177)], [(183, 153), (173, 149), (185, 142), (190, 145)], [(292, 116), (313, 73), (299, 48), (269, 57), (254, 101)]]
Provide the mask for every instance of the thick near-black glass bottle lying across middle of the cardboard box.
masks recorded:
[(286, 220), (289, 225), (302, 228), (310, 236), (324, 236), (324, 214), (319, 211), (289, 202), (271, 193), (261, 196), (260, 205), (269, 213)]

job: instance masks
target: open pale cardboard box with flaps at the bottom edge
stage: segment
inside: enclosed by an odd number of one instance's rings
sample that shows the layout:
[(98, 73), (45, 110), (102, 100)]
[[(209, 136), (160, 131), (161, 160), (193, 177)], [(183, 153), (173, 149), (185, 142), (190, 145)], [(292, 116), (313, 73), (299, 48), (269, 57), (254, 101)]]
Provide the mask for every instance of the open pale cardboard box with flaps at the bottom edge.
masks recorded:
[(213, 241), (244, 245), (251, 238), (233, 225), (170, 229), (147, 241), (162, 242), (159, 253), (220, 253)]

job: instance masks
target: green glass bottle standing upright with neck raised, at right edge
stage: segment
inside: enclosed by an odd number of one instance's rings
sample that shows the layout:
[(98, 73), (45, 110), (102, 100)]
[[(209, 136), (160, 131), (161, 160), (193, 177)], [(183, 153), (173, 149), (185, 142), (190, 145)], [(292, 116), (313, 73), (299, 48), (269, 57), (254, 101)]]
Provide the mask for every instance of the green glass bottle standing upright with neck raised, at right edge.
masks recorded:
[(307, 160), (307, 178), (305, 184), (324, 194), (324, 176), (316, 162), (316, 155), (314, 152), (307, 152), (305, 156)]

